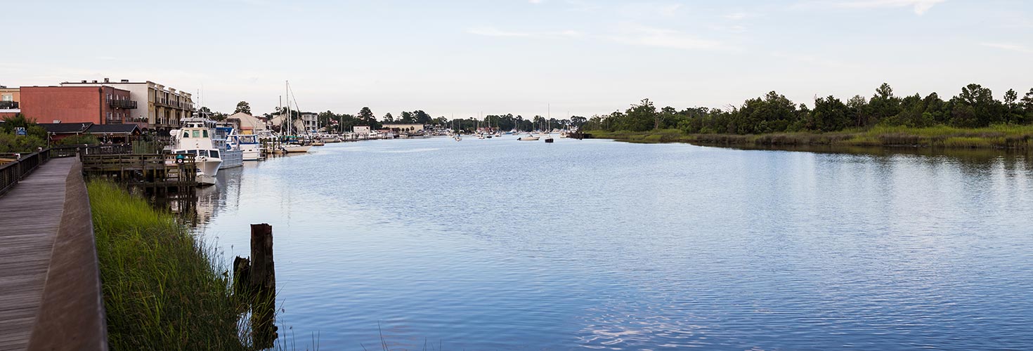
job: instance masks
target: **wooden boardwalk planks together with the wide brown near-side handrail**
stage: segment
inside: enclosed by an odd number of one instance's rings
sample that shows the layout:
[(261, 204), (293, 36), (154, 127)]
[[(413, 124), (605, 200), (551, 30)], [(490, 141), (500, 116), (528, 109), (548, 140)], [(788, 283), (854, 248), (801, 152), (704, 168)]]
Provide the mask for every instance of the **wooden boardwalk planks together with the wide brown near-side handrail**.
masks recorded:
[(0, 196), (0, 350), (106, 349), (81, 169), (50, 159)]

